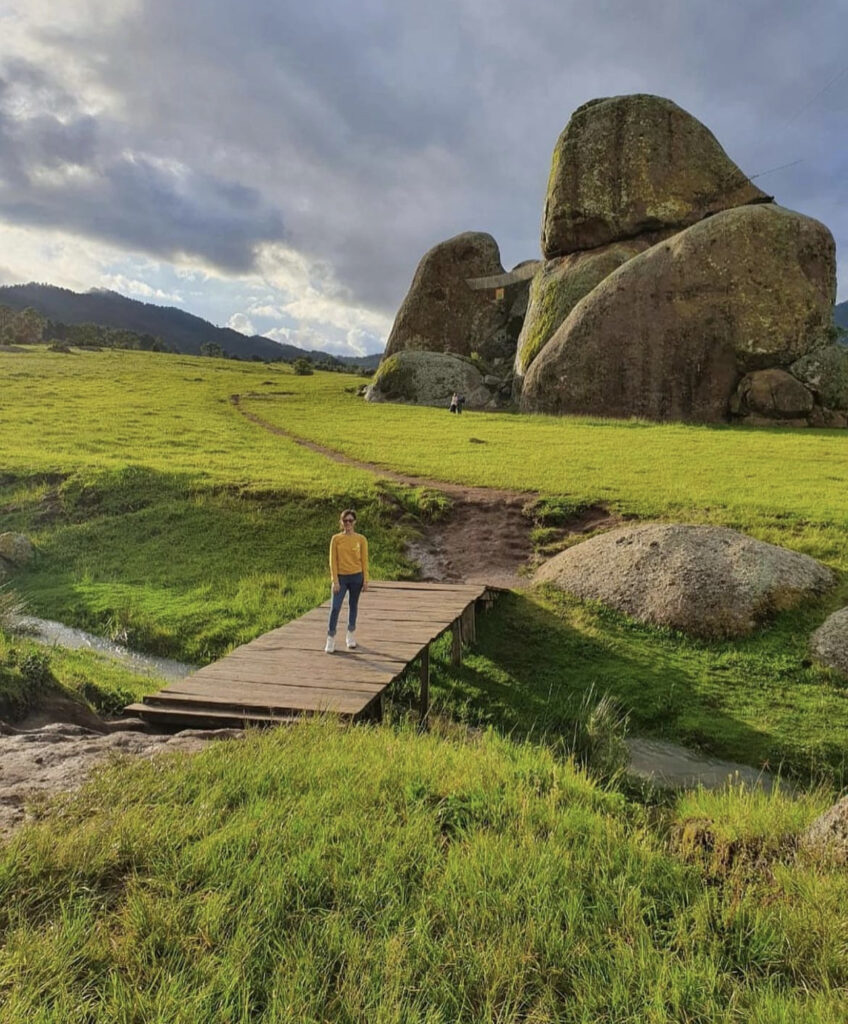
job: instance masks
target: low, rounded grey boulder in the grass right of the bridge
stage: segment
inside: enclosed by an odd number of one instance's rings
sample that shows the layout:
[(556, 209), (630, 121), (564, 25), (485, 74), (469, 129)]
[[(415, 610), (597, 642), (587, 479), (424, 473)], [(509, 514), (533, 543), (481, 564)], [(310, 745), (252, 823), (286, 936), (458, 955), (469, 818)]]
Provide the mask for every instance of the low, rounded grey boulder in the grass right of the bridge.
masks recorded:
[(577, 597), (693, 636), (735, 637), (833, 586), (815, 559), (723, 526), (621, 526), (554, 556), (536, 573)]

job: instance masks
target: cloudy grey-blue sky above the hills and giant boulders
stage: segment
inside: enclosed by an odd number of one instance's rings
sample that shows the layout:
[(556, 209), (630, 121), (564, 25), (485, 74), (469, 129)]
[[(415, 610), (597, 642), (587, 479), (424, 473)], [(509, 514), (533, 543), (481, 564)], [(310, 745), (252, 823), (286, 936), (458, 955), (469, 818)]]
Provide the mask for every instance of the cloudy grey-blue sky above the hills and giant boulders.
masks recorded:
[(551, 153), (651, 92), (823, 221), (848, 299), (848, 0), (0, 0), (0, 284), (380, 351), (421, 256), (540, 256)]

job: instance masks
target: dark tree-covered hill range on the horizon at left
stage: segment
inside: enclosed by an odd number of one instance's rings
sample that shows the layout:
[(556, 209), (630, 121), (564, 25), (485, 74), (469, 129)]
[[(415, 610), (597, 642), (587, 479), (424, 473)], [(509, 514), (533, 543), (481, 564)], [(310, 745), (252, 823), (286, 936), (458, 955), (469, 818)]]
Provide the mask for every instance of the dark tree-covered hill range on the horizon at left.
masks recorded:
[[(32, 307), (42, 316), (61, 324), (99, 324), (103, 327), (150, 334), (161, 338), (177, 351), (200, 354), (201, 345), (213, 342), (229, 355), (262, 359), (292, 359), (307, 356), (313, 360), (334, 358), (317, 349), (303, 349), (282, 344), (259, 335), (248, 337), (227, 327), (215, 327), (209, 321), (186, 313), (175, 306), (157, 306), (128, 299), (117, 292), (92, 290), (72, 292), (53, 285), (8, 285), (0, 288), (0, 305), (12, 309)], [(379, 355), (335, 356), (352, 366), (374, 368)]]

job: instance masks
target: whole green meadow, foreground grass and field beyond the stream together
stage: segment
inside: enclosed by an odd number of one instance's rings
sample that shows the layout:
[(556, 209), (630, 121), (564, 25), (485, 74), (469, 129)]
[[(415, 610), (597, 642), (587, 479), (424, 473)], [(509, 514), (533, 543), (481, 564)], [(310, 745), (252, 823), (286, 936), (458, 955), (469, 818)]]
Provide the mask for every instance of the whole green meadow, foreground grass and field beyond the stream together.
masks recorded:
[[(443, 512), (250, 423), (557, 518), (735, 526), (840, 573), (753, 636), (705, 643), (552, 591), (501, 598), (429, 734), (330, 721), (119, 761), (0, 844), (2, 1022), (757, 1022), (848, 1016), (844, 868), (798, 849), (844, 785), (848, 681), (806, 641), (848, 598), (848, 435), (449, 417), (345, 375), (133, 352), (0, 353), (0, 522), (29, 609), (210, 660), (327, 594), (354, 505), (374, 572)], [(472, 441), (473, 438), (473, 441)], [(321, 639), (321, 638), (319, 638)], [(0, 703), (156, 688), (0, 630)], [(794, 793), (644, 803), (569, 748), (587, 691), (633, 732), (794, 776)], [(2, 717), (2, 713), (0, 713)], [(580, 754), (573, 751), (573, 754)]]

